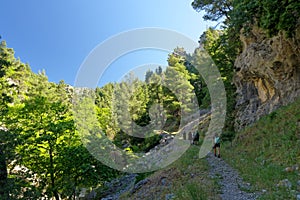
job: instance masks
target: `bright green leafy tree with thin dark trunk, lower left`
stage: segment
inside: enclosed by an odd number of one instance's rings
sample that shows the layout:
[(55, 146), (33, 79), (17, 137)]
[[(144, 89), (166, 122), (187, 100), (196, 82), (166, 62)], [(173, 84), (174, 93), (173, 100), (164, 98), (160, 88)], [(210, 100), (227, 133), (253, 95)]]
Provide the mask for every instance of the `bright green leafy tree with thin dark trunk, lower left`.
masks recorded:
[(27, 91), (30, 98), (10, 107), (15, 124), (21, 127), (17, 153), (22, 157), (20, 164), (41, 180), (39, 191), (46, 189), (47, 196), (59, 199), (57, 158), (74, 137), (71, 102), (65, 85), (49, 83), (44, 74), (32, 80), (31, 86)]

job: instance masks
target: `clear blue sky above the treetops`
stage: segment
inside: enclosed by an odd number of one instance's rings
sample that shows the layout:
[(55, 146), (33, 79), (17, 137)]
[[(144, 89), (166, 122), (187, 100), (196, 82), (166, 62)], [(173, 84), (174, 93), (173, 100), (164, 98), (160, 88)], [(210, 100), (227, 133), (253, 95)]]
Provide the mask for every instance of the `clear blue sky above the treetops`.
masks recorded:
[[(202, 14), (193, 10), (191, 2), (0, 0), (0, 35), (9, 47), (14, 48), (16, 57), (29, 63), (34, 72), (45, 69), (50, 81), (65, 80), (73, 84), (89, 52), (120, 32), (160, 27), (178, 31), (198, 41), (201, 33), (212, 24), (203, 21)], [(104, 82), (120, 78), (122, 73), (128, 71), (126, 68), (132, 67), (131, 61), (132, 65), (166, 62), (165, 53), (150, 54), (137, 54), (125, 58), (123, 62), (115, 62)], [(142, 61), (143, 57), (147, 59)]]

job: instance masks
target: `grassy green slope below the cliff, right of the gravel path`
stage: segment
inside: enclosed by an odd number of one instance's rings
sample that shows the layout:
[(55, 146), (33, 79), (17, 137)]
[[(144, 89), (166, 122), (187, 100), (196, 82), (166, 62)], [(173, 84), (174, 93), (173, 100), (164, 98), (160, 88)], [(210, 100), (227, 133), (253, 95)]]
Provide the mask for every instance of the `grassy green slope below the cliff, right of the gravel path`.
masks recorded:
[(300, 99), (239, 132), (223, 157), (261, 199), (295, 199), (300, 194)]

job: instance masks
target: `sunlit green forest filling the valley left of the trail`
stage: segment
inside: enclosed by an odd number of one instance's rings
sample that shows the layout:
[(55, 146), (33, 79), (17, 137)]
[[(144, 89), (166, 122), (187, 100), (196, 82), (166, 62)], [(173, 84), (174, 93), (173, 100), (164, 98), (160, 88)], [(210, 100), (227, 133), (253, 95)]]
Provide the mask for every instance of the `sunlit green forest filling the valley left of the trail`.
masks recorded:
[[(188, 56), (195, 60), (201, 56), (200, 49), (195, 55), (175, 49), (166, 58), (165, 70), (148, 71), (145, 80), (129, 74), (120, 83), (95, 90), (49, 82), (45, 72), (34, 74), (28, 64), (16, 59), (5, 41), (0, 50), (0, 188), (4, 198), (71, 198), (83, 187), (99, 187), (121, 174), (96, 160), (83, 145), (78, 132), (82, 127), (72, 112), (78, 100), (74, 94), (95, 96), (94, 103), (83, 109), (94, 110), (101, 132), (129, 155), (148, 152), (158, 144), (161, 133), (176, 133), (181, 116), (192, 116), (194, 105), (210, 109), (206, 84), (187, 62)], [(190, 101), (194, 97), (187, 96), (193, 92), (197, 94), (194, 103)], [(147, 125), (148, 132), (142, 132)], [(134, 137), (139, 133), (148, 137)]]

